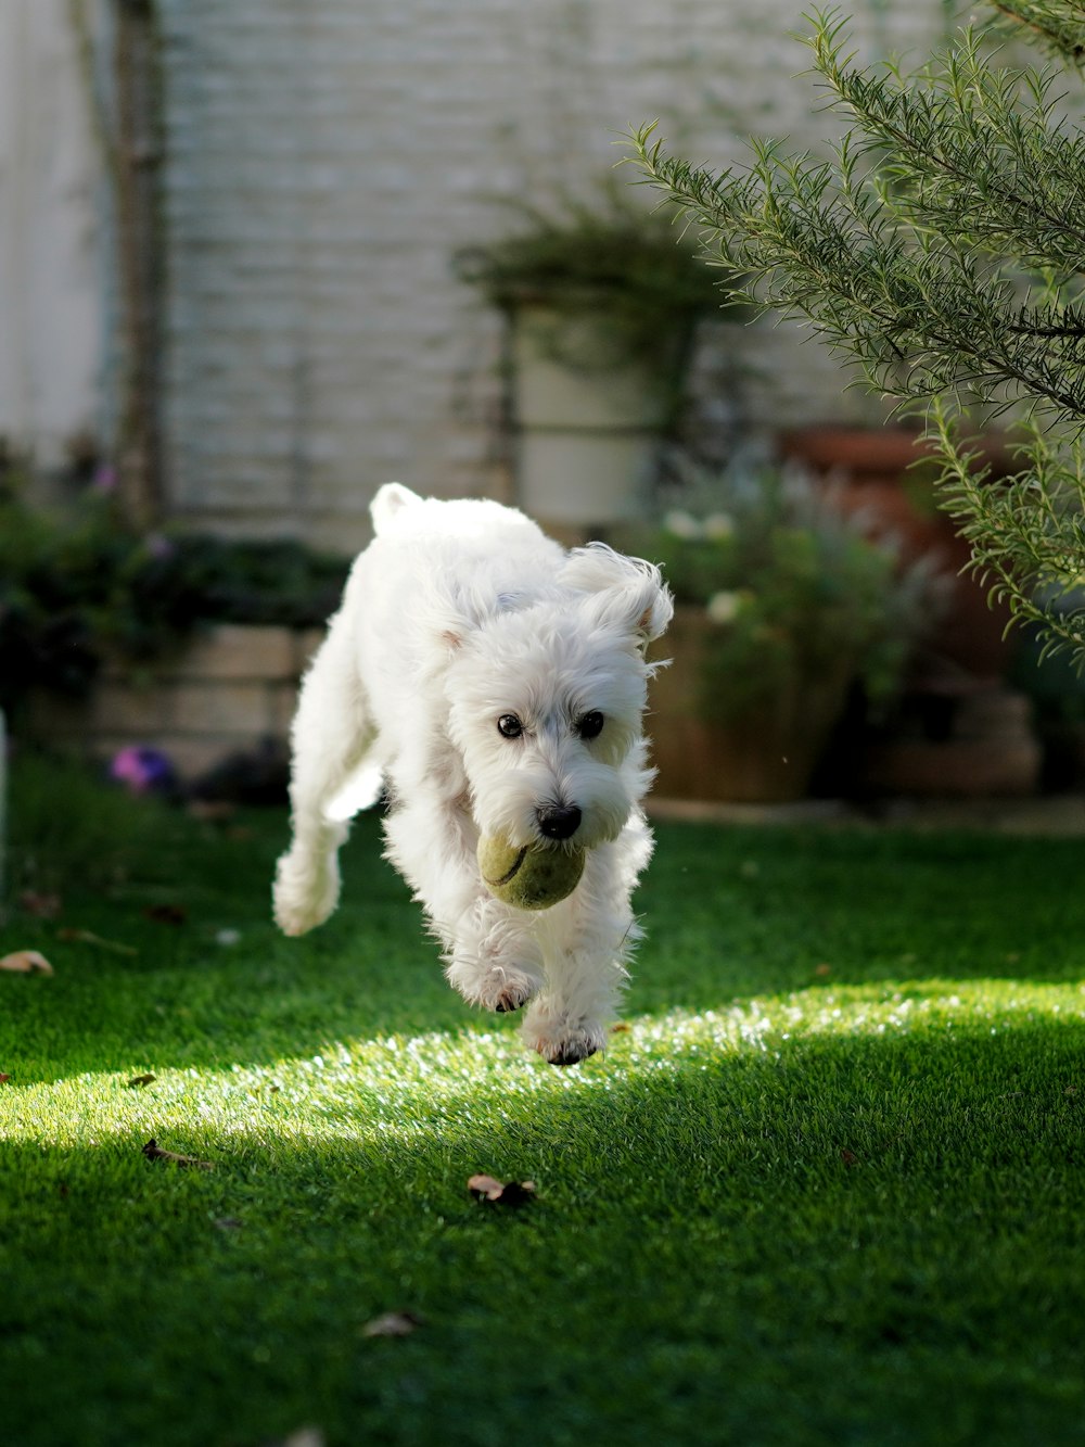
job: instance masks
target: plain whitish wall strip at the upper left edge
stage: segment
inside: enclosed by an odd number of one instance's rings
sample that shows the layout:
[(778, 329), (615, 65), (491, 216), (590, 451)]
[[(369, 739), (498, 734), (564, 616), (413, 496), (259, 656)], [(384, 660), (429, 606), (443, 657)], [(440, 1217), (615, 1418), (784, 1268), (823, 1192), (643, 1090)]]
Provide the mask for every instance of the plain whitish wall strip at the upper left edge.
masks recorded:
[(59, 464), (104, 405), (101, 158), (67, 0), (0, 0), (0, 436)]

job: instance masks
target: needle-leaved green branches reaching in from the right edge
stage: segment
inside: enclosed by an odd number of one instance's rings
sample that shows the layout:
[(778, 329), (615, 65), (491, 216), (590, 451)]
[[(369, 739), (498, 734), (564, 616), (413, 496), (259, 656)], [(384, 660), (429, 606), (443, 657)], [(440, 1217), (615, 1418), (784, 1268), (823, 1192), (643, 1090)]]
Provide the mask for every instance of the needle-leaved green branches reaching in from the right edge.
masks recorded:
[[(1076, 3), (1005, 0), (1071, 64)], [(830, 159), (757, 140), (722, 174), (634, 137), (647, 178), (700, 229), (732, 294), (809, 321), (901, 405), (930, 408), (945, 505), (975, 569), (1052, 650), (1085, 658), (1085, 136), (1055, 68), (1014, 67), (966, 30), (916, 74), (859, 67), (843, 23), (812, 17), (813, 72), (848, 123)], [(961, 417), (1024, 410), (1020, 469), (977, 478)]]

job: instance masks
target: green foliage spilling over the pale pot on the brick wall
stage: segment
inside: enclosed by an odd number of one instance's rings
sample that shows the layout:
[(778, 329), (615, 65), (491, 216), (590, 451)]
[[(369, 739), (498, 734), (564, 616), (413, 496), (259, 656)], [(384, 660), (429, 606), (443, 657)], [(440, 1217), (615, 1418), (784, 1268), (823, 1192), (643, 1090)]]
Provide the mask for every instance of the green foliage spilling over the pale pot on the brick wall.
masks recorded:
[(503, 311), (527, 302), (573, 313), (603, 307), (626, 347), (652, 352), (661, 336), (723, 304), (710, 266), (673, 216), (632, 210), (612, 192), (597, 207), (567, 201), (554, 214), (518, 211), (522, 230), (456, 258), (459, 275)]

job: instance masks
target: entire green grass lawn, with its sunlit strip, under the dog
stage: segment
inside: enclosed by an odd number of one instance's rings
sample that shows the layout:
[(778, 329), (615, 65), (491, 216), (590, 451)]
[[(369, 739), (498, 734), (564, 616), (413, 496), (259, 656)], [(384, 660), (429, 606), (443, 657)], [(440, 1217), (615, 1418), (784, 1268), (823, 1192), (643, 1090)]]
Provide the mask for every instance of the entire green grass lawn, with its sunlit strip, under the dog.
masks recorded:
[(0, 936), (55, 969), (0, 974), (4, 1447), (1082, 1441), (1085, 842), (660, 826), (560, 1071), (372, 818), (304, 941), (281, 813), (58, 774), (13, 831), (62, 909)]

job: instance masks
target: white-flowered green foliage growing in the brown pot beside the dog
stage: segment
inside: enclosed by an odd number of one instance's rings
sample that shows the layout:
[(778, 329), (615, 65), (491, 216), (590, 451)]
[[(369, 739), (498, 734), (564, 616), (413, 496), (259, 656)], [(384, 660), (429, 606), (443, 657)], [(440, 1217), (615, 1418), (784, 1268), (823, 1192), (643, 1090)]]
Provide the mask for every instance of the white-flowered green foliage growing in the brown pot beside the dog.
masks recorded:
[(936, 606), (924, 563), (901, 566), (796, 467), (733, 463), (622, 546), (663, 567), (677, 602), (703, 606), (700, 702), (707, 718), (749, 713), (825, 677), (862, 680), (884, 703)]

